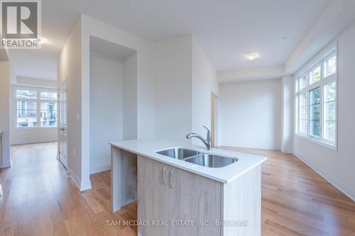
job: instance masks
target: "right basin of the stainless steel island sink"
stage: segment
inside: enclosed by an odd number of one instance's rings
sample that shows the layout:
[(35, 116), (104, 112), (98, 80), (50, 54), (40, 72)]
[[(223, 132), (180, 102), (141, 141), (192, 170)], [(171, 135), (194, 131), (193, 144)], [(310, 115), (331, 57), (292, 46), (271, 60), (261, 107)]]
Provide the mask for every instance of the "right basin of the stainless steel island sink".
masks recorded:
[(193, 164), (198, 164), (203, 167), (212, 167), (212, 168), (226, 167), (229, 164), (233, 164), (234, 162), (237, 161), (238, 159), (234, 157), (222, 157), (214, 154), (203, 154), (203, 153), (185, 159), (185, 162), (190, 162)]

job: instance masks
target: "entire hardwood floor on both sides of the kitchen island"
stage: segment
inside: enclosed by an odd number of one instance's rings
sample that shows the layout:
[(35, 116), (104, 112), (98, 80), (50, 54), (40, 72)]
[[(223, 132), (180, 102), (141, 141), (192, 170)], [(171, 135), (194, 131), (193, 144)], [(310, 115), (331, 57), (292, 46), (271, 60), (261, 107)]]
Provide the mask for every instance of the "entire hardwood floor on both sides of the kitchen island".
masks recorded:
[[(355, 203), (293, 154), (224, 147), (268, 157), (262, 167), (262, 235), (355, 235)], [(110, 173), (80, 193), (55, 159), (55, 142), (11, 148), (0, 170), (0, 235), (136, 235), (136, 203), (112, 214)]]

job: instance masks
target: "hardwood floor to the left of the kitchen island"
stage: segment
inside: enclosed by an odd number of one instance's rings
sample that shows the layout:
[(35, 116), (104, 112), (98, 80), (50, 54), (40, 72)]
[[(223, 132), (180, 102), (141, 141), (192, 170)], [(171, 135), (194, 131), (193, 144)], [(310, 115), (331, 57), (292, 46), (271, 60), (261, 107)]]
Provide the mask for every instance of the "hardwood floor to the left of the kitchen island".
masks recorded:
[(0, 235), (136, 235), (136, 227), (107, 226), (136, 219), (136, 203), (111, 213), (109, 172), (80, 193), (56, 152), (56, 142), (11, 147), (12, 167), (0, 171)]

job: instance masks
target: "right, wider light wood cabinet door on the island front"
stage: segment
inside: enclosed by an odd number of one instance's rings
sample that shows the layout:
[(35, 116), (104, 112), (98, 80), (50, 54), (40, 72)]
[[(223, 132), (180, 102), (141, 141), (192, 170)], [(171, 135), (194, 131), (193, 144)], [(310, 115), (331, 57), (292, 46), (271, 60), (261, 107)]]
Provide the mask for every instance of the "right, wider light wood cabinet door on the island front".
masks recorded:
[(169, 236), (220, 235), (215, 222), (221, 218), (221, 184), (175, 167), (170, 167), (168, 179), (170, 223), (195, 224), (170, 225)]

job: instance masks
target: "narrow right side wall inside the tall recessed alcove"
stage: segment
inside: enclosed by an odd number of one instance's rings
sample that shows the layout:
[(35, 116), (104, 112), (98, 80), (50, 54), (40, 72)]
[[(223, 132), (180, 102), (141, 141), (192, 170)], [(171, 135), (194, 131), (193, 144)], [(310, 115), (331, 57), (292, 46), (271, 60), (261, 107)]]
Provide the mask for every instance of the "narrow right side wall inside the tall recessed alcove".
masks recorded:
[(123, 63), (124, 140), (137, 138), (137, 71), (137, 52), (135, 52), (125, 58)]

